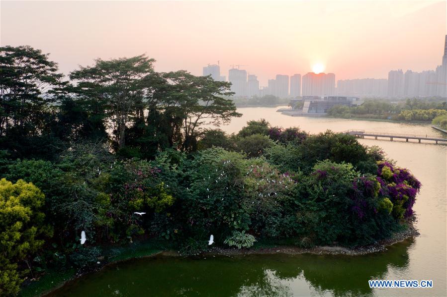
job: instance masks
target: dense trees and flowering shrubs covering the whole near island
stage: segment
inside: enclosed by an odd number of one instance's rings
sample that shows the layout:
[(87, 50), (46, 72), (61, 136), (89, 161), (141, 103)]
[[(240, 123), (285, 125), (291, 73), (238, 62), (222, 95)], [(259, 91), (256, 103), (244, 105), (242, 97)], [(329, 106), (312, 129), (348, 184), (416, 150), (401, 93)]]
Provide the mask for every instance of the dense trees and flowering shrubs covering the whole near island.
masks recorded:
[(0, 295), (107, 260), (200, 255), (211, 235), (221, 249), (349, 249), (414, 220), (421, 183), (377, 146), (265, 119), (219, 129), (242, 116), (227, 82), (145, 55), (63, 81), (39, 50), (0, 54)]

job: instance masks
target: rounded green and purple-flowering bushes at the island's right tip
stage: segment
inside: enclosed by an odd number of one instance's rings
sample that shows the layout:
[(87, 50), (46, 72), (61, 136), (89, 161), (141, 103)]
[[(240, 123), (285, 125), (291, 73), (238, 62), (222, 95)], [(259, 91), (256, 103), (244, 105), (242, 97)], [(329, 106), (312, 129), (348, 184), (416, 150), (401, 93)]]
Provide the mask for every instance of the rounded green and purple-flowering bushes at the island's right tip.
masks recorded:
[(387, 238), (413, 214), (421, 183), (406, 169), (378, 162), (376, 175), (350, 163), (320, 161), (308, 176), (297, 212), (304, 234), (318, 244), (357, 245)]

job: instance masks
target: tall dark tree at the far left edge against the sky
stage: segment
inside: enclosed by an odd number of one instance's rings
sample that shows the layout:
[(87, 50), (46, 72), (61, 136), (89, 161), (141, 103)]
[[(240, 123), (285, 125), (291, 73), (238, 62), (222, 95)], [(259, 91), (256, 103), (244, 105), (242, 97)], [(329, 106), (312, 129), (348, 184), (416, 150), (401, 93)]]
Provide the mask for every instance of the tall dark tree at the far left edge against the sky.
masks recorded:
[[(61, 84), (57, 64), (29, 46), (0, 48), (0, 143), (15, 154), (35, 153), (38, 139), (48, 145), (54, 121), (53, 89)], [(43, 141), (42, 141), (43, 140)]]

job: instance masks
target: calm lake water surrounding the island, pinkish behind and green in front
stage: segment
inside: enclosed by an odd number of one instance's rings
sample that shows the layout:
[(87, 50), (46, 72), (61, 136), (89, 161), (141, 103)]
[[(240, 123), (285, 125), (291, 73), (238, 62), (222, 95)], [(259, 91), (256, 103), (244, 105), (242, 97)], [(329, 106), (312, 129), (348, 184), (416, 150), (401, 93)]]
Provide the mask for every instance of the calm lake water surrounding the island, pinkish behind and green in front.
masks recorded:
[[(425, 124), (288, 117), (277, 108), (242, 108), (223, 129), (237, 132), (247, 120), (317, 133), (365, 129), (443, 137)], [(423, 184), (415, 211), (421, 235), (366, 256), (252, 255), (130, 260), (86, 275), (53, 296), (447, 296), (447, 146), (361, 139), (379, 145)], [(374, 289), (369, 279), (433, 280), (433, 289)]]

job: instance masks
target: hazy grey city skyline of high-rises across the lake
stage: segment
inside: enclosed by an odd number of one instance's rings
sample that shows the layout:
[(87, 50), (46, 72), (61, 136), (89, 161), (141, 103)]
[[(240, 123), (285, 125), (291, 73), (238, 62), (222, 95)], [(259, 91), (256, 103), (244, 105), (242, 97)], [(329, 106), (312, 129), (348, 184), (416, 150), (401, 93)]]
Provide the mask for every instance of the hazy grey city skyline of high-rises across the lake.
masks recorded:
[[(237, 66), (235, 68), (234, 66)], [(302, 76), (295, 73), (292, 76), (276, 74), (268, 79), (268, 85), (260, 88), (258, 77), (249, 74), (240, 66), (232, 65), (228, 71), (228, 81), (232, 83), (231, 91), (235, 97), (253, 97), (273, 95), (279, 98), (296, 98), (299, 96), (372, 96), (372, 97), (447, 97), (447, 34), (444, 41), (444, 52), (441, 64), (435, 70), (421, 72), (407, 69), (390, 70), (387, 79), (357, 78), (336, 80), (335, 73), (322, 71), (323, 65), (316, 64), (315, 72)], [(221, 76), (219, 64), (208, 64), (203, 67), (202, 75), (210, 75), (215, 80), (225, 81)], [(337, 85), (336, 85), (337, 81)], [(289, 87), (290, 86), (290, 87)]]

